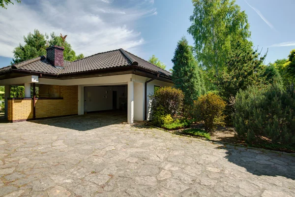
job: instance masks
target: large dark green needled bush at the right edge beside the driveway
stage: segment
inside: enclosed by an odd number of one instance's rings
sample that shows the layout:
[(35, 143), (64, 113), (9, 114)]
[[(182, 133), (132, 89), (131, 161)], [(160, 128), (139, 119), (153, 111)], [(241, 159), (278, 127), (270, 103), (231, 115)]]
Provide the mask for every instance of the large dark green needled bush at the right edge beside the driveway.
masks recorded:
[(295, 145), (295, 88), (273, 84), (239, 91), (233, 123), (250, 144)]

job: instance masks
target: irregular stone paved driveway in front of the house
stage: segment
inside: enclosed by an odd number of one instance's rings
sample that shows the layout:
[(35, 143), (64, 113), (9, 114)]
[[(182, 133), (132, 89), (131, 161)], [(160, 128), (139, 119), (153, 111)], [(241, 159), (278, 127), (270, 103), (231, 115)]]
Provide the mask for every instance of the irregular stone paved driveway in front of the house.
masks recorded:
[(0, 124), (0, 196), (294, 197), (295, 157), (90, 114)]

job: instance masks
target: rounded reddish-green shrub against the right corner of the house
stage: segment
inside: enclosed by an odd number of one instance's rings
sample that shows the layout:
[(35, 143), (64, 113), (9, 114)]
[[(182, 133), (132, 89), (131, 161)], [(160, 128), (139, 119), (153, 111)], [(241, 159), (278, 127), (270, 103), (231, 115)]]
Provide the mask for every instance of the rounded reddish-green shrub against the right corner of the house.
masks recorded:
[(160, 115), (170, 114), (175, 117), (181, 114), (184, 95), (181, 90), (172, 87), (161, 87), (151, 99), (151, 121), (157, 121)]

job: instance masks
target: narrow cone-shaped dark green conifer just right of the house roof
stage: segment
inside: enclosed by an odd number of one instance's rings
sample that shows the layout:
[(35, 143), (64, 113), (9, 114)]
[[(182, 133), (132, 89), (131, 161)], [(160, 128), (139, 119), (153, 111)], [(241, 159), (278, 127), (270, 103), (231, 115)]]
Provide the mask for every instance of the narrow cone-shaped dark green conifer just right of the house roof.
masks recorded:
[(172, 79), (176, 88), (184, 93), (184, 103), (192, 104), (205, 94), (204, 78), (187, 39), (183, 36), (178, 42), (172, 59), (174, 64)]

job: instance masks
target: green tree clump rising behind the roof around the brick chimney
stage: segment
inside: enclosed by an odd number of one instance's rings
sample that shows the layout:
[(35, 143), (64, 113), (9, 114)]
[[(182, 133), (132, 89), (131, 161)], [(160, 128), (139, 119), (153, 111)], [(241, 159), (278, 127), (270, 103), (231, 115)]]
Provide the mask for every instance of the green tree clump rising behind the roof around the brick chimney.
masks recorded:
[(75, 51), (72, 50), (71, 45), (67, 41), (62, 41), (60, 36), (57, 36), (54, 32), (50, 34), (51, 38), (47, 34), (42, 34), (38, 30), (34, 30), (34, 33), (28, 33), (27, 37), (24, 36), (25, 45), (19, 44), (13, 50), (14, 59), (11, 64), (17, 64), (32, 58), (36, 58), (42, 55), (46, 55), (46, 48), (52, 45), (59, 45), (64, 47), (63, 57), (66, 61), (75, 61), (83, 58), (83, 54), (76, 56)]

